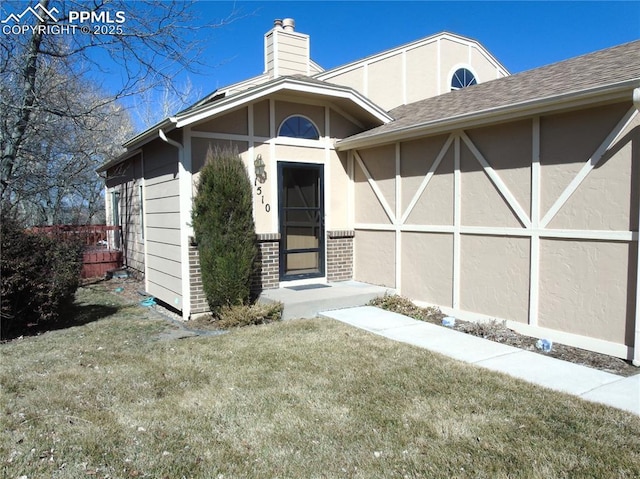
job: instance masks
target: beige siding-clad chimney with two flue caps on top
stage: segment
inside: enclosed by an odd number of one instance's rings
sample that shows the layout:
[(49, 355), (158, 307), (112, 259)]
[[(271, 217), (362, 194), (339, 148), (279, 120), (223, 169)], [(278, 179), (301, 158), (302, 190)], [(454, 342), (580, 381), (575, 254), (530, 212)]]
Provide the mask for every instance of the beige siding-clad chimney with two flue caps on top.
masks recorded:
[(264, 36), (264, 68), (270, 78), (310, 75), (309, 35), (295, 31), (293, 18), (275, 20)]

